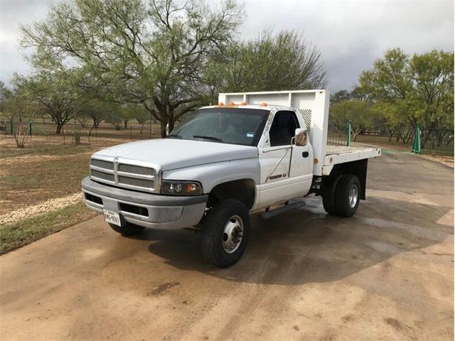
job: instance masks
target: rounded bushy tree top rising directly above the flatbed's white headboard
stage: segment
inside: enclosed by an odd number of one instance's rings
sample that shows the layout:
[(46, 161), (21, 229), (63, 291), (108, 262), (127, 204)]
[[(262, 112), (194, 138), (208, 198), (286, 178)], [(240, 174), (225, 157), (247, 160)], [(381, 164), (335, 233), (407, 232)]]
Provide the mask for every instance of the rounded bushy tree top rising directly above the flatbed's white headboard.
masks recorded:
[(208, 83), (224, 92), (318, 89), (327, 80), (321, 53), (296, 31), (232, 44), (208, 67)]

